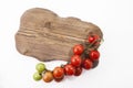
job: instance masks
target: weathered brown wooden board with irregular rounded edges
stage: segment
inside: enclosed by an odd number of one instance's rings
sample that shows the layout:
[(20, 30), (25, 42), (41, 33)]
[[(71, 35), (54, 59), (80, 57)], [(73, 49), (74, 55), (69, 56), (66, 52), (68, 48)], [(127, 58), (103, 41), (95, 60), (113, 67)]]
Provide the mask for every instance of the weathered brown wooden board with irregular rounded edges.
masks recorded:
[(34, 8), (21, 16), (16, 34), (17, 50), (39, 61), (69, 61), (75, 44), (84, 43), (90, 34), (102, 38), (101, 30), (76, 18), (60, 18), (52, 11)]

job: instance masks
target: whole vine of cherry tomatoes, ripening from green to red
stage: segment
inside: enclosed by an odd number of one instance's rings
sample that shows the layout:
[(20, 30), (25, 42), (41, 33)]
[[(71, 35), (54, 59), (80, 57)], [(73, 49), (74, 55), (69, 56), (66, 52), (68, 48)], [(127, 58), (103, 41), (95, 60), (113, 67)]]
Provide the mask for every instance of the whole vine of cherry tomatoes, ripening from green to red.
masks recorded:
[(40, 80), (42, 78), (45, 82), (50, 82), (53, 79), (55, 81), (61, 81), (64, 76), (80, 76), (83, 68), (91, 69), (96, 67), (100, 53), (96, 48), (89, 48), (99, 44), (100, 37), (98, 35), (90, 35), (84, 45), (74, 45), (73, 55), (71, 56), (71, 61), (68, 62), (66, 65), (61, 65), (59, 67), (55, 67), (53, 70), (48, 70), (44, 64), (38, 64), (38, 72), (33, 75), (33, 79)]

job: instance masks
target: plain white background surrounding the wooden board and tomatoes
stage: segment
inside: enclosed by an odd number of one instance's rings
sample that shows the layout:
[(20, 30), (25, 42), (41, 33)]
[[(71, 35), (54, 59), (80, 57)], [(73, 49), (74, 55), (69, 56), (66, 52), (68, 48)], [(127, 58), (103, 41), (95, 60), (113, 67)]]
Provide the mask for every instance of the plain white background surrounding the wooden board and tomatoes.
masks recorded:
[[(99, 25), (104, 34), (100, 65), (61, 82), (34, 81), (39, 61), (16, 50), (20, 16), (31, 8), (45, 8), (60, 16), (76, 16)], [(47, 63), (49, 68), (60, 62)], [(0, 88), (133, 88), (132, 0), (0, 0)]]

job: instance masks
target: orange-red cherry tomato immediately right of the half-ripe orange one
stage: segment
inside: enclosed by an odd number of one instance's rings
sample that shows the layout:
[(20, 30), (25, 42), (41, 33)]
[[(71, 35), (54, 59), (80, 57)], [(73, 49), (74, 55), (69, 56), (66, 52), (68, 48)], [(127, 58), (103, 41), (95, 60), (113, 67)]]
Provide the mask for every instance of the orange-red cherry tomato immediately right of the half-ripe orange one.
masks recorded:
[(53, 77), (54, 78), (62, 78), (64, 76), (64, 70), (62, 67), (55, 67), (53, 69)]

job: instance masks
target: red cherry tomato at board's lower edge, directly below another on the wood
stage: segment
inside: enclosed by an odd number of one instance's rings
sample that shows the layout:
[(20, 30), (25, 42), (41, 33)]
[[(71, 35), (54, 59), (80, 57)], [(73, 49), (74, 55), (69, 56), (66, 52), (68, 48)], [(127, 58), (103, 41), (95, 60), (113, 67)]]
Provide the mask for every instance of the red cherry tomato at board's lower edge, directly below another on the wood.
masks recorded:
[(73, 56), (71, 57), (71, 64), (72, 64), (74, 67), (80, 66), (80, 65), (81, 65), (81, 62), (82, 62), (82, 59), (81, 59), (81, 57), (80, 57), (79, 55), (73, 55)]

